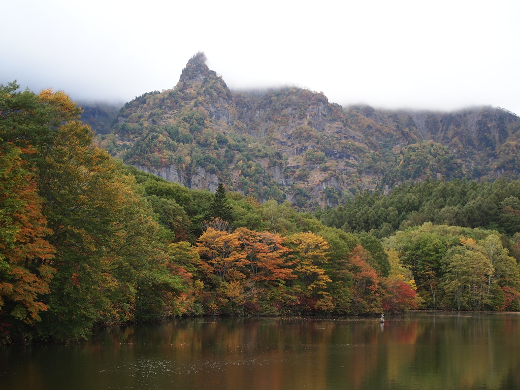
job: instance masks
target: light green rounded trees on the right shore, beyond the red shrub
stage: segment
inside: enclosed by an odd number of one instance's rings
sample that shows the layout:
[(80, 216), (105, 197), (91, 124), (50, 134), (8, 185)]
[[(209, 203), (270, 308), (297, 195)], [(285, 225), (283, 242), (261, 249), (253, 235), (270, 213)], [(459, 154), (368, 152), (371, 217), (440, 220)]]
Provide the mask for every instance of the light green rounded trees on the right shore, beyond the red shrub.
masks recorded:
[(424, 308), (518, 309), (520, 268), (496, 231), (426, 223), (385, 243), (412, 271)]

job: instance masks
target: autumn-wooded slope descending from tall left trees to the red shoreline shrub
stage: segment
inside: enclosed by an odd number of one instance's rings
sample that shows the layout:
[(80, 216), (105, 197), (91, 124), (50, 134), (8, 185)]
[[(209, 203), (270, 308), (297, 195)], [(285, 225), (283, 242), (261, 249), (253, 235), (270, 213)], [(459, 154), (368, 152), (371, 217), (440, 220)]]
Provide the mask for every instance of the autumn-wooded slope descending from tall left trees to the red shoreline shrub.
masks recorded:
[(2, 343), (179, 315), (415, 306), (413, 282), (377, 240), (288, 203), (123, 166), (63, 92), (17, 88), (0, 89)]

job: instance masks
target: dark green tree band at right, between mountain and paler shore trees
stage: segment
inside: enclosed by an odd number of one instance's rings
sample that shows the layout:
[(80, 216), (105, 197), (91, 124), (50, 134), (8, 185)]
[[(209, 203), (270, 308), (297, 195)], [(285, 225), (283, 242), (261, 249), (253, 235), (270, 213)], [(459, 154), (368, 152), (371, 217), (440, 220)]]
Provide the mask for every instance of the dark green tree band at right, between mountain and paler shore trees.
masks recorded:
[(387, 196), (368, 191), (357, 194), (351, 204), (323, 212), (321, 220), (327, 226), (370, 231), (380, 238), (424, 222), (472, 228), (490, 226), (513, 235), (520, 230), (515, 223), (517, 209), (502, 202), (519, 196), (519, 181), (477, 184), (466, 180), (427, 180), (422, 184), (402, 184)]

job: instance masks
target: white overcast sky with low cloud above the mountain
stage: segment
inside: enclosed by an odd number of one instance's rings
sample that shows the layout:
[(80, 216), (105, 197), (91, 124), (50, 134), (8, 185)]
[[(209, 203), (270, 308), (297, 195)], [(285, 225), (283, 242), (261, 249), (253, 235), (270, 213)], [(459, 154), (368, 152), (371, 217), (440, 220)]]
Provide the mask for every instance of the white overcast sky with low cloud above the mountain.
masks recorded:
[(520, 115), (520, 1), (16, 0), (0, 84), (125, 102), (204, 51), (232, 89), (298, 85), (343, 106)]

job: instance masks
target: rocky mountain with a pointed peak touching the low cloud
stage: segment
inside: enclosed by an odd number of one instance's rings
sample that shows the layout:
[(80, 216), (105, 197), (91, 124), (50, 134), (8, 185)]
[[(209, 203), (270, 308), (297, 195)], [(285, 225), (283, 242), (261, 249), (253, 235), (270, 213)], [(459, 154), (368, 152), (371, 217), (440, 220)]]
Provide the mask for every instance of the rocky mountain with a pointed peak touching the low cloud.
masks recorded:
[(507, 110), (343, 109), (303, 88), (231, 91), (205, 61), (194, 55), (174, 88), (127, 102), (98, 145), (192, 189), (223, 182), (307, 210), (405, 180), (518, 178), (520, 118)]

